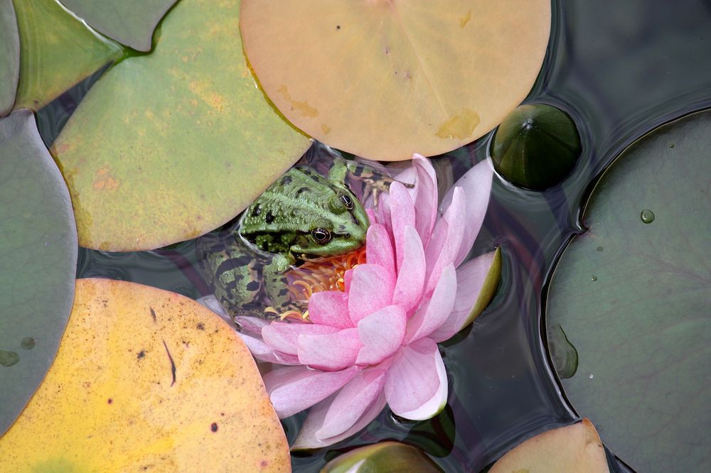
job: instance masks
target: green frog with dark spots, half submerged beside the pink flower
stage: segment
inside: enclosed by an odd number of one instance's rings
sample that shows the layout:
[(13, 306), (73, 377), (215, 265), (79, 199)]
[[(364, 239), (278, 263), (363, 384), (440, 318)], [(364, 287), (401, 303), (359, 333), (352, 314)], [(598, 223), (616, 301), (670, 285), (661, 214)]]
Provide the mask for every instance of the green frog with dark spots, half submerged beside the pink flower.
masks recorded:
[(328, 177), (313, 168), (287, 170), (242, 212), (232, 227), (198, 239), (198, 261), (220, 305), (235, 315), (303, 311), (285, 273), (309, 259), (338, 256), (365, 244), (368, 214), (346, 184), (363, 165), (333, 160)]

